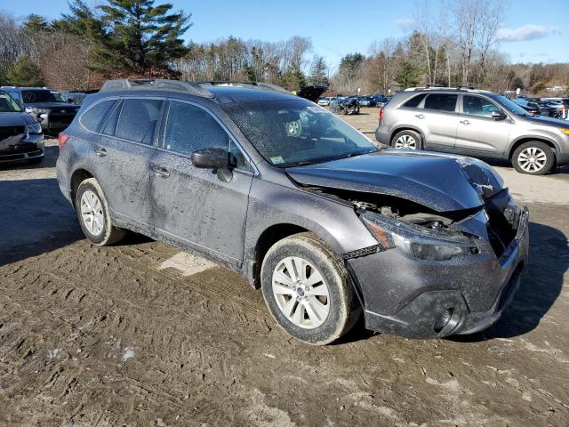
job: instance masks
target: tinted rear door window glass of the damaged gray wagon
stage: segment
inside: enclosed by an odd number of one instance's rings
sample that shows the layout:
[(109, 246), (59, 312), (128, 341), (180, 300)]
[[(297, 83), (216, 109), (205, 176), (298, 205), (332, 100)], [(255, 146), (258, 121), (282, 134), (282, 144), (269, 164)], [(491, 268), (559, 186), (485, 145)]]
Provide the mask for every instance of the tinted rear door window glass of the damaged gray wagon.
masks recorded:
[(145, 98), (124, 100), (116, 125), (116, 137), (152, 145), (156, 124), (162, 114), (162, 104), (161, 100)]

